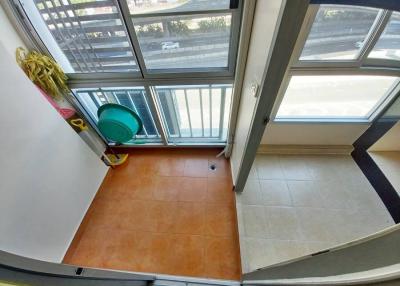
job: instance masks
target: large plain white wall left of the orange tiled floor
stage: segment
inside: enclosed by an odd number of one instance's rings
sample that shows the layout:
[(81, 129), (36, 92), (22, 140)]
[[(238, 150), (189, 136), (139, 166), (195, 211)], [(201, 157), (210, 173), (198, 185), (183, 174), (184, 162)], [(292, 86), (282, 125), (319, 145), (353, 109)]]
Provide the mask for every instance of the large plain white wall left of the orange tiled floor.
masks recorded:
[(17, 66), (0, 9), (0, 249), (61, 262), (107, 167)]

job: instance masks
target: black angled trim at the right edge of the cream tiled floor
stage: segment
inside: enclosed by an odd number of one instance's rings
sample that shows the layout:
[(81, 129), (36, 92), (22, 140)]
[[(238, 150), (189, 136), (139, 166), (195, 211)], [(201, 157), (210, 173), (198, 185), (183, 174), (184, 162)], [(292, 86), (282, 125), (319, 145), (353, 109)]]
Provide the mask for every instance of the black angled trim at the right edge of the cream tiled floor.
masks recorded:
[(400, 196), (367, 150), (389, 131), (398, 120), (378, 120), (354, 142), (354, 161), (374, 187), (395, 223), (400, 223)]

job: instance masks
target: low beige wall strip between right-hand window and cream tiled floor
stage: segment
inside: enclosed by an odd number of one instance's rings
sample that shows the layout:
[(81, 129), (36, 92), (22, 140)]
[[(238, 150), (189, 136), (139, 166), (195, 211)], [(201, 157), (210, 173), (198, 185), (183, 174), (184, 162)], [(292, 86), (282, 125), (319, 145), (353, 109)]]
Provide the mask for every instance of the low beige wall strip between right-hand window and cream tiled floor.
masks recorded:
[(268, 124), (261, 144), (352, 145), (368, 124)]

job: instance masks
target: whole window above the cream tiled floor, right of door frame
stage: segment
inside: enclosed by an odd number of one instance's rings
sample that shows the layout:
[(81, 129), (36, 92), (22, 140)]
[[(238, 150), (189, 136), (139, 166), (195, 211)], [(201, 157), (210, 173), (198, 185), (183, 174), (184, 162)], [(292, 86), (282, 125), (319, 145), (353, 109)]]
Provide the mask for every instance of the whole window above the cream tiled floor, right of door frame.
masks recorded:
[(399, 92), (400, 65), (387, 61), (400, 54), (398, 15), (351, 5), (310, 5), (274, 120), (374, 120)]

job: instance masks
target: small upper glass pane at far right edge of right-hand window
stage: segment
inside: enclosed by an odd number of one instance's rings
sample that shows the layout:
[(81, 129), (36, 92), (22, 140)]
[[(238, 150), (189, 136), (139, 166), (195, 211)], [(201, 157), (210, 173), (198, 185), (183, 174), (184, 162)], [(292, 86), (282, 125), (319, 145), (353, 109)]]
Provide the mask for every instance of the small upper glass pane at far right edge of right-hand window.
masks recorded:
[(400, 13), (393, 12), (368, 58), (400, 60)]

